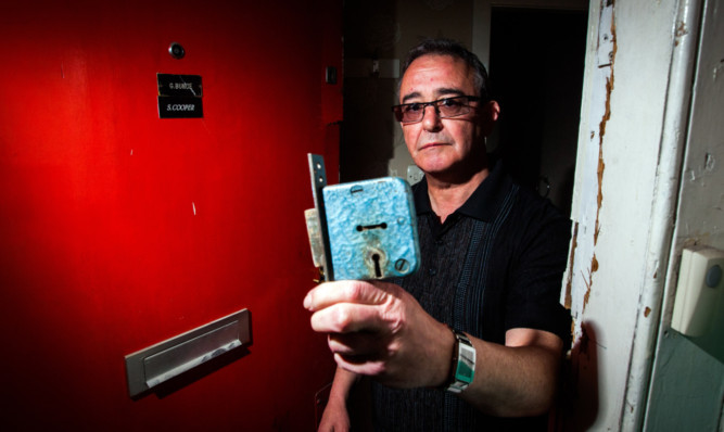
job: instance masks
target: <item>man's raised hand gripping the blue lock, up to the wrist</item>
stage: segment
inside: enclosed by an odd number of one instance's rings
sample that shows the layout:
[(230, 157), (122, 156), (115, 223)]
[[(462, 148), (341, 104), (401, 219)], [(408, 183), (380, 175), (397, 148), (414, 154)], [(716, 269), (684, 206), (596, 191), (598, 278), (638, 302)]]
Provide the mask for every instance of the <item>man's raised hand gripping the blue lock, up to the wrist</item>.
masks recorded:
[(382, 281), (322, 283), (306, 295), (312, 328), (329, 334), (336, 364), (394, 387), (447, 381), (455, 338), (401, 287)]

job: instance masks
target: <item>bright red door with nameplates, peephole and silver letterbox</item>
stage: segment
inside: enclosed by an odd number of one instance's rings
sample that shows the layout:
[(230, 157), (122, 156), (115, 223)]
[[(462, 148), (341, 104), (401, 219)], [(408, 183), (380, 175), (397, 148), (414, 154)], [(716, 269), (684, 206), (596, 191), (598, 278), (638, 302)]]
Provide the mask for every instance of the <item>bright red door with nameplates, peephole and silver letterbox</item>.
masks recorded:
[[(0, 428), (313, 430), (306, 153), (336, 178), (342, 2), (5, 3)], [(204, 117), (160, 119), (156, 73), (201, 75)], [(128, 396), (125, 355), (241, 308), (249, 355)]]

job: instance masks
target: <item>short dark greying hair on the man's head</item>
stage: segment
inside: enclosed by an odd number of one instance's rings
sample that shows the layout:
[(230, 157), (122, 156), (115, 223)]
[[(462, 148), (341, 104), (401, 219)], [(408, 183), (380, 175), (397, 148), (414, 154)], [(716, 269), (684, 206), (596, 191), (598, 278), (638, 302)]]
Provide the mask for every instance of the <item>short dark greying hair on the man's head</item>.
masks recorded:
[[(478, 96), (480, 96), (483, 101), (490, 100), (488, 78), (485, 66), (480, 61), (480, 59), (478, 59), (478, 55), (468, 51), (468, 49), (465, 48), (461, 43), (452, 39), (425, 39), (417, 47), (414, 47), (407, 53), (407, 59), (403, 64), (401, 77), (405, 76), (405, 72), (416, 59), (421, 58), (422, 55), (431, 54), (449, 55), (454, 59), (462, 60), (474, 73), (473, 84), (478, 89)], [(399, 79), (399, 84), (397, 86), (398, 91), (401, 84), (402, 78)]]

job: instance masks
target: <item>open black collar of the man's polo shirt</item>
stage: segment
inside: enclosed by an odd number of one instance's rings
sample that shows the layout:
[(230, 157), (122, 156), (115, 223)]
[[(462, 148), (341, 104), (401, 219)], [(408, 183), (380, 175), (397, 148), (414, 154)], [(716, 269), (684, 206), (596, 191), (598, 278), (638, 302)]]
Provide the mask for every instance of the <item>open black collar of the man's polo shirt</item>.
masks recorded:
[[(454, 214), (459, 214), (468, 217), (473, 217), (486, 223), (493, 221), (498, 208), (503, 204), (506, 191), (510, 188), (511, 180), (505, 175), (503, 164), (497, 163), (485, 177), (478, 189), (468, 198), (468, 201), (462, 204)], [(427, 180), (420, 181), (412, 188), (415, 198), (415, 208), (418, 215), (432, 213), (432, 205), (430, 204), (430, 195), (428, 194)]]

